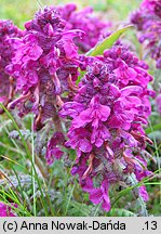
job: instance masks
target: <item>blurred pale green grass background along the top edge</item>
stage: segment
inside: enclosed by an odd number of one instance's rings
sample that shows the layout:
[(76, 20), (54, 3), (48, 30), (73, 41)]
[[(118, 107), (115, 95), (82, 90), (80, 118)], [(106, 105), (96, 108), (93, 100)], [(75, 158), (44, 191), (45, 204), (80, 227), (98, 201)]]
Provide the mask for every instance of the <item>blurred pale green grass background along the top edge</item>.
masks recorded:
[[(72, 0), (0, 0), (0, 18), (10, 18), (23, 28), (24, 23), (32, 18), (41, 5), (57, 5), (67, 2), (72, 2)], [(104, 17), (116, 22), (125, 20), (129, 12), (139, 5), (140, 0), (75, 0), (73, 2), (79, 9), (92, 5), (96, 11), (107, 12)]]

